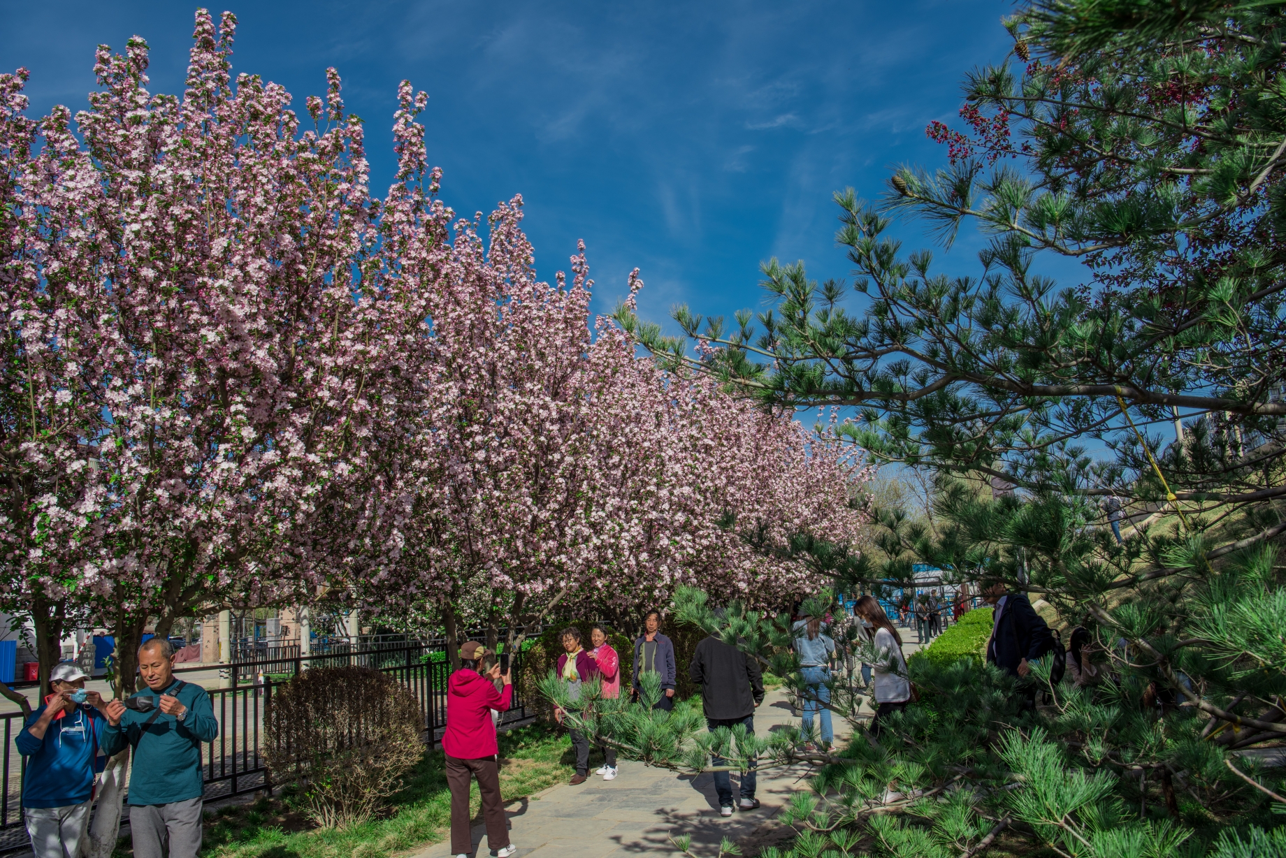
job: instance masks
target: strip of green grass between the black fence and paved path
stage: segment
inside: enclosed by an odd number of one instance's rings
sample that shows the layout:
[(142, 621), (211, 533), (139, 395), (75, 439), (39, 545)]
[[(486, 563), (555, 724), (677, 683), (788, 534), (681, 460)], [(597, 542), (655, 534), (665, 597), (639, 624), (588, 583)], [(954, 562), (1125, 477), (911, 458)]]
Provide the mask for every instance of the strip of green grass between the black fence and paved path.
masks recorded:
[[(597, 756), (597, 751), (594, 754)], [(598, 765), (592, 756), (590, 765)], [(567, 733), (531, 726), (500, 735), (500, 791), (505, 801), (571, 778)], [(472, 810), (478, 813), (477, 783)], [(386, 858), (441, 840), (450, 826), (451, 796), (442, 753), (430, 751), (406, 778), (386, 818), (343, 830), (312, 827), (302, 801), (289, 790), (253, 804), (206, 812), (202, 858)], [(130, 855), (117, 849), (117, 857)]]

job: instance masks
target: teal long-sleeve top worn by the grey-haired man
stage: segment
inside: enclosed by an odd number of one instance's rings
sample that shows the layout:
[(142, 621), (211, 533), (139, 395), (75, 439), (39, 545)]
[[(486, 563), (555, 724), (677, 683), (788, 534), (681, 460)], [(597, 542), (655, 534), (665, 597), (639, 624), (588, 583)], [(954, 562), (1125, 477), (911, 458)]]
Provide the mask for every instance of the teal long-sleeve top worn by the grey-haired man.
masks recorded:
[(150, 724), (153, 711), (139, 713), (126, 709), (118, 727), (103, 731), (103, 751), (108, 755), (134, 746), (134, 767), (130, 772), (130, 804), (168, 804), (199, 798), (204, 792), (201, 780), (201, 744), (219, 736), (219, 722), (210, 705), (210, 695), (201, 686), (185, 683), (180, 691), (175, 679), (163, 691), (144, 688), (135, 697), (161, 695), (177, 697), (188, 707), (180, 722), (174, 715), (159, 713)]

